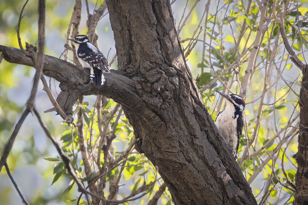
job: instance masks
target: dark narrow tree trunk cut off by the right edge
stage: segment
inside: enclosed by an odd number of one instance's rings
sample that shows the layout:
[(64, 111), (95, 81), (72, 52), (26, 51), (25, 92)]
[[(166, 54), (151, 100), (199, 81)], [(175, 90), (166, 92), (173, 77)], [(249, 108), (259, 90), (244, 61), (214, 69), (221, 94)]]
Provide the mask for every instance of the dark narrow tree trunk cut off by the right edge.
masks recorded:
[(308, 204), (308, 65), (302, 67), (302, 87), (299, 97), (300, 124), (298, 135), (298, 152), (293, 156), (298, 164), (295, 175), (295, 203)]

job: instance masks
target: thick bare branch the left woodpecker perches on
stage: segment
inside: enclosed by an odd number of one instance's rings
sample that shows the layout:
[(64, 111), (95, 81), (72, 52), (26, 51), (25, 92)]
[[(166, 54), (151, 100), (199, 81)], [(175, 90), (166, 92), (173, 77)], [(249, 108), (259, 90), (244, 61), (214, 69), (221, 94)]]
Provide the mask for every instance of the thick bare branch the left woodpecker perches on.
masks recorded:
[[(3, 52), (4, 59), (10, 63), (34, 66), (31, 59), (23, 55), (20, 49), (0, 45), (0, 51)], [(43, 73), (61, 83), (62, 92), (57, 102), (67, 115), (72, 114), (72, 106), (80, 95), (102, 94), (133, 110), (144, 104), (136, 95), (132, 80), (120, 74), (123, 72), (111, 70), (110, 73), (105, 73), (106, 83), (99, 90), (89, 80), (89, 69), (82, 69), (59, 58), (44, 55)]]

